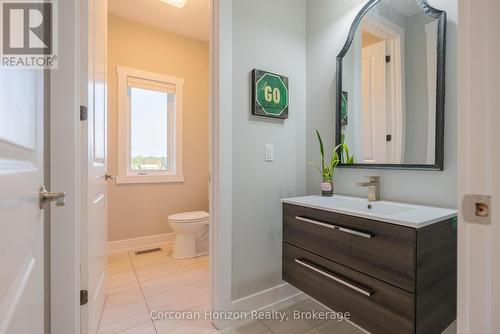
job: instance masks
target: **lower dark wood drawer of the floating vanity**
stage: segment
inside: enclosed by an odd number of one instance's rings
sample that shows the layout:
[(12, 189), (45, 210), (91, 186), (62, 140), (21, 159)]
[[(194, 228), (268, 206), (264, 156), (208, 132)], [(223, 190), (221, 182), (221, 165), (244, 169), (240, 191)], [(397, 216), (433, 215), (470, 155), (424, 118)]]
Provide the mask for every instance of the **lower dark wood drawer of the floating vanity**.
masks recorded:
[(414, 332), (413, 294), (286, 242), (283, 279), (374, 334)]

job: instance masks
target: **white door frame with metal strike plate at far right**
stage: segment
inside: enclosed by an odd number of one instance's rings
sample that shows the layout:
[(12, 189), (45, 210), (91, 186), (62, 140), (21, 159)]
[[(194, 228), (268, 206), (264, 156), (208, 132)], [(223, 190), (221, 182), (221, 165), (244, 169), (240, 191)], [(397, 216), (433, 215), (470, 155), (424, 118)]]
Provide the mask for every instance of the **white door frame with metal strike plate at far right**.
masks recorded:
[[(458, 333), (500, 331), (500, 11), (497, 0), (459, 0)], [(491, 225), (464, 220), (466, 194), (491, 196)]]

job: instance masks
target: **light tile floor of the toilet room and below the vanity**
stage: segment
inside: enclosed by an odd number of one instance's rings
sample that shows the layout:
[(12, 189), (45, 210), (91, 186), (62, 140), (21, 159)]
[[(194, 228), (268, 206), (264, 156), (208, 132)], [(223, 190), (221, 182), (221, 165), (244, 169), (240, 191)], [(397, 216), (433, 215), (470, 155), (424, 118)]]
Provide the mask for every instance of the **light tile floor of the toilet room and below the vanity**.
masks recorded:
[[(265, 320), (217, 331), (205, 320), (153, 321), (150, 311), (204, 311), (208, 309), (208, 257), (173, 260), (171, 244), (162, 251), (108, 257), (107, 295), (98, 334), (361, 334), (346, 321)], [(302, 298), (274, 307), (287, 316), (295, 310), (324, 307)], [(292, 317), (290, 317), (292, 318)], [(454, 329), (447, 334), (456, 333)]]

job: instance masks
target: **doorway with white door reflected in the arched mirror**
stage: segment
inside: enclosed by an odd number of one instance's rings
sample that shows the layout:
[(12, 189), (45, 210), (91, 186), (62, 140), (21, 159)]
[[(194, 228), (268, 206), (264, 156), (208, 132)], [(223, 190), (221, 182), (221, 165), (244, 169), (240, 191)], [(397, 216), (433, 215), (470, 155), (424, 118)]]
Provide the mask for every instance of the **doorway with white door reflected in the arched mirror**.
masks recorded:
[(405, 30), (372, 15), (364, 18), (360, 38), (362, 156), (367, 163), (401, 163), (406, 128)]

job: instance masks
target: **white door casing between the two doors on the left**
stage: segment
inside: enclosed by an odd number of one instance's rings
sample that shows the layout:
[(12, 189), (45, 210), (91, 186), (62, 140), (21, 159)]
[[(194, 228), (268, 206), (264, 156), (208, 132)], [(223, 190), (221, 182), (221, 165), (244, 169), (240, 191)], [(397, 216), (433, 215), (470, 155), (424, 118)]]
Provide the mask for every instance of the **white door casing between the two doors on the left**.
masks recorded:
[[(50, 214), (51, 333), (80, 333), (80, 7), (58, 1), (59, 68), (50, 73), (50, 189), (66, 205)], [(60, 190), (59, 190), (60, 189)]]

